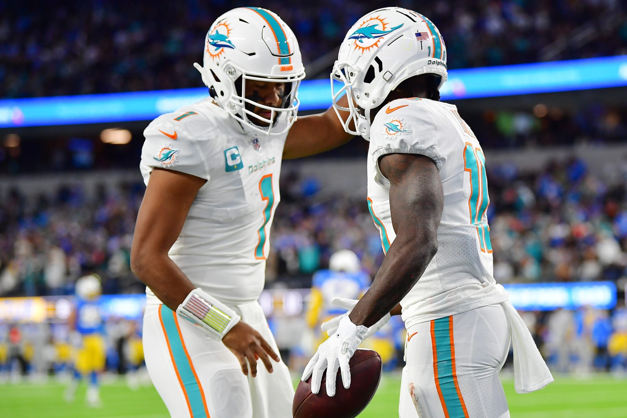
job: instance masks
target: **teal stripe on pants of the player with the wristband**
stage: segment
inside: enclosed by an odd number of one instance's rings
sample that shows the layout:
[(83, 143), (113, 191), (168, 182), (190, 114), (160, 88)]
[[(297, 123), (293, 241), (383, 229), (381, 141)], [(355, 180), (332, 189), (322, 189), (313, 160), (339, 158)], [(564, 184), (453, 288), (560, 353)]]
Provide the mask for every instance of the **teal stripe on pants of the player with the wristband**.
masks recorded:
[(166, 337), (170, 343), (170, 349), (174, 357), (174, 367), (179, 371), (184, 390), (187, 392), (189, 405), (192, 409), (192, 417), (207, 418), (207, 414), (204, 412), (203, 395), (201, 394), (200, 387), (196, 381), (194, 372), (192, 372), (189, 360), (187, 360), (185, 350), (183, 349), (183, 343), (181, 336), (179, 336), (176, 322), (174, 321), (172, 309), (168, 308), (166, 305), (161, 305), (159, 309), (161, 309), (161, 319), (163, 320)]

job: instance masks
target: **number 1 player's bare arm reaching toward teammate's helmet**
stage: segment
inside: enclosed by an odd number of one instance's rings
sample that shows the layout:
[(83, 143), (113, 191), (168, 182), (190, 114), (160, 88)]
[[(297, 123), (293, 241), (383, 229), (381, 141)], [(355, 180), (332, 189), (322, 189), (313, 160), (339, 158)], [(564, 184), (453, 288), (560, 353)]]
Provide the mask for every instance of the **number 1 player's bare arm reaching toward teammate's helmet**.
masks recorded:
[[(346, 97), (338, 100), (338, 104), (348, 107)], [(344, 120), (348, 112), (339, 110)], [(352, 134), (347, 134), (342, 122), (335, 115), (332, 107), (325, 112), (315, 115), (298, 117), (294, 122), (285, 141), (283, 159), (301, 158), (314, 154), (324, 153), (350, 141)]]

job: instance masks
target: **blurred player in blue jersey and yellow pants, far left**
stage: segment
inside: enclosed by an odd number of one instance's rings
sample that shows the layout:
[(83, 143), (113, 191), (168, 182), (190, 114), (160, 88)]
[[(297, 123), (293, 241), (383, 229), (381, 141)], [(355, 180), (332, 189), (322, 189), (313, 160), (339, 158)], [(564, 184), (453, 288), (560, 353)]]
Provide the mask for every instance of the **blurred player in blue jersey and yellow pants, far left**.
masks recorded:
[(74, 399), (76, 388), (83, 377), (89, 378), (87, 404), (99, 407), (100, 388), (98, 375), (105, 367), (105, 341), (103, 339), (103, 321), (98, 303), (102, 294), (100, 279), (95, 276), (83, 276), (76, 281), (76, 311), (70, 324), (74, 326), (75, 343), (74, 379), (68, 386), (66, 400)]

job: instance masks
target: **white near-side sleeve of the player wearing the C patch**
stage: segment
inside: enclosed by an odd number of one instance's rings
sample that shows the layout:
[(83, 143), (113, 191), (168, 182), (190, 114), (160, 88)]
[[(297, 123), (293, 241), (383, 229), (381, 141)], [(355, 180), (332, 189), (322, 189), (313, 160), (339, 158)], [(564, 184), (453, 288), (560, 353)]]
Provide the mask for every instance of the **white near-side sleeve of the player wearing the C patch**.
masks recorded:
[(201, 117), (194, 115), (196, 121), (176, 121), (176, 115), (173, 113), (161, 115), (144, 131), (145, 141), (142, 147), (140, 168), (145, 183), (154, 168), (181, 171), (181, 173), (209, 180), (209, 166), (206, 158), (208, 140), (192, 137), (188, 133), (198, 132), (197, 130), (189, 131), (191, 127), (189, 125), (200, 122)]

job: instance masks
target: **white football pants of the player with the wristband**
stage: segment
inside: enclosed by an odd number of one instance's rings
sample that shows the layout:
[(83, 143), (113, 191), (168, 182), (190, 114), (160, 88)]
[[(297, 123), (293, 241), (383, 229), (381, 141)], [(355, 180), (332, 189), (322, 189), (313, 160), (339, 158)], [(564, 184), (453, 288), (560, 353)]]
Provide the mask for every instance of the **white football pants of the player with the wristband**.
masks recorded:
[[(261, 306), (234, 308), (278, 354)], [(211, 340), (196, 326), (177, 318), (167, 306), (149, 304), (144, 313), (146, 367), (174, 418), (290, 418), (294, 390), (285, 363), (268, 373), (257, 363), (257, 376), (241, 371), (222, 341)]]

